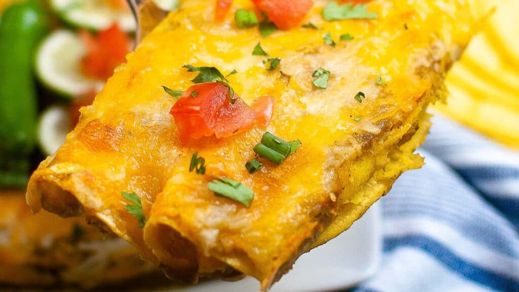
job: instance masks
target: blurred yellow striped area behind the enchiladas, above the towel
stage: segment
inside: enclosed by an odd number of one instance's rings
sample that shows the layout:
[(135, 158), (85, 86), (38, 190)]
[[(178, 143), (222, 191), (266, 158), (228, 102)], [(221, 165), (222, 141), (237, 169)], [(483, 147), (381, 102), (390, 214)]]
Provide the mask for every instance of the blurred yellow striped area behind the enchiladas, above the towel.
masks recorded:
[(450, 94), (435, 109), (519, 149), (519, 0), (474, 0), (494, 10), (446, 79)]

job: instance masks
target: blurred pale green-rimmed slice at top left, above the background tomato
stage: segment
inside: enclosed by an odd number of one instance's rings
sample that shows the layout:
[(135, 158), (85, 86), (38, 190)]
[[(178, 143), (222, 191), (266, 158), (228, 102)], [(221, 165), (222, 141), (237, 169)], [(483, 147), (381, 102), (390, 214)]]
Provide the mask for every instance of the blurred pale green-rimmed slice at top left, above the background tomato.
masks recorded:
[(134, 32), (136, 28), (129, 9), (113, 9), (104, 0), (50, 0), (50, 5), (63, 21), (78, 28), (100, 31), (114, 22), (126, 32)]

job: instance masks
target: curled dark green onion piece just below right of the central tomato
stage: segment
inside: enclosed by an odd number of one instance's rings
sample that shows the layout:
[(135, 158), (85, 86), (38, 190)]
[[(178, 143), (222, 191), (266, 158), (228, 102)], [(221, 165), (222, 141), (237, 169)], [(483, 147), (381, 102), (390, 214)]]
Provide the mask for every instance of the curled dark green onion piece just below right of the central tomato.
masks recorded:
[(265, 132), (261, 142), (254, 147), (254, 152), (268, 161), (281, 164), (286, 157), (293, 154), (301, 146), (301, 141), (294, 140), (286, 142), (285, 140)]

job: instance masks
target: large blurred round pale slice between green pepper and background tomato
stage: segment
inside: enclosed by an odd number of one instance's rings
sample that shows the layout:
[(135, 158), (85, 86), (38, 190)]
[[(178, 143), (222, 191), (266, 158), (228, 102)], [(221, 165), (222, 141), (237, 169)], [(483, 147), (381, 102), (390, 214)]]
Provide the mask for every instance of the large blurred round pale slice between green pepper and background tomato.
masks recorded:
[(104, 83), (81, 74), (81, 58), (86, 48), (75, 33), (60, 30), (49, 35), (36, 54), (36, 75), (48, 88), (69, 98)]

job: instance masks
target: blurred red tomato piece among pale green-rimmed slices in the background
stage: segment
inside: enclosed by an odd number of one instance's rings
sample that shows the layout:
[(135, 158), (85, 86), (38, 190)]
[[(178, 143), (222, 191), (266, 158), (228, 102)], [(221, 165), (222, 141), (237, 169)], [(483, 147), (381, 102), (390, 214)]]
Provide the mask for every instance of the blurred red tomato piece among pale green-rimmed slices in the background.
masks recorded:
[(126, 62), (131, 42), (117, 24), (97, 36), (86, 30), (80, 31), (79, 35), (87, 47), (87, 54), (81, 60), (81, 71), (85, 76), (106, 80), (118, 65)]

